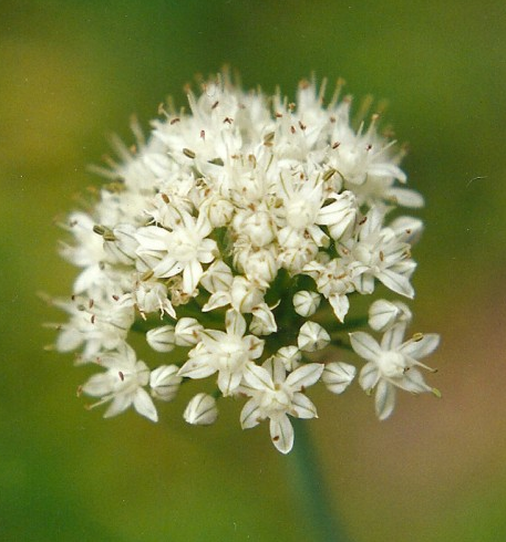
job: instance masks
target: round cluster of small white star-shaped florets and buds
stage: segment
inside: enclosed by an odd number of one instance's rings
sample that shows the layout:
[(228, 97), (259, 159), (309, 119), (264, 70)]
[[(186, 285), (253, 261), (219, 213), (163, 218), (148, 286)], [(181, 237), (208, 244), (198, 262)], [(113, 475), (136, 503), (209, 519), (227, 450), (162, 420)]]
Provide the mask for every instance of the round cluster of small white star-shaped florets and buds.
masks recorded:
[[(69, 217), (62, 254), (80, 273), (71, 300), (56, 301), (69, 314), (56, 348), (103, 368), (82, 392), (109, 403), (106, 417), (133, 405), (156, 421), (154, 399), (211, 377), (216, 392), (195, 395), (186, 421), (211, 424), (219, 397), (244, 397), (242, 428), (268, 418), (287, 454), (288, 416), (317, 417), (307, 388), (322, 381), (340, 394), (353, 379), (353, 365), (331, 361), (348, 341), (366, 361), (359, 381), (375, 389), (381, 419), (397, 387), (437, 393), (419, 371), (437, 335), (403, 342), (403, 303), (371, 305), (380, 344), (348, 335), (351, 299), (378, 282), (413, 298), (422, 222), (388, 215), (423, 199), (404, 187), (402, 152), (378, 133), (378, 115), (354, 131), (350, 98), (337, 92), (324, 106), (323, 94), (302, 82), (289, 103), (218, 76), (188, 93), (189, 113), (162, 108), (147, 142), (136, 125), (135, 148), (116, 142), (121, 163), (102, 169), (109, 183), (93, 208)], [(138, 330), (167, 365), (137, 359), (128, 342)], [(183, 363), (171, 363), (176, 347)]]

